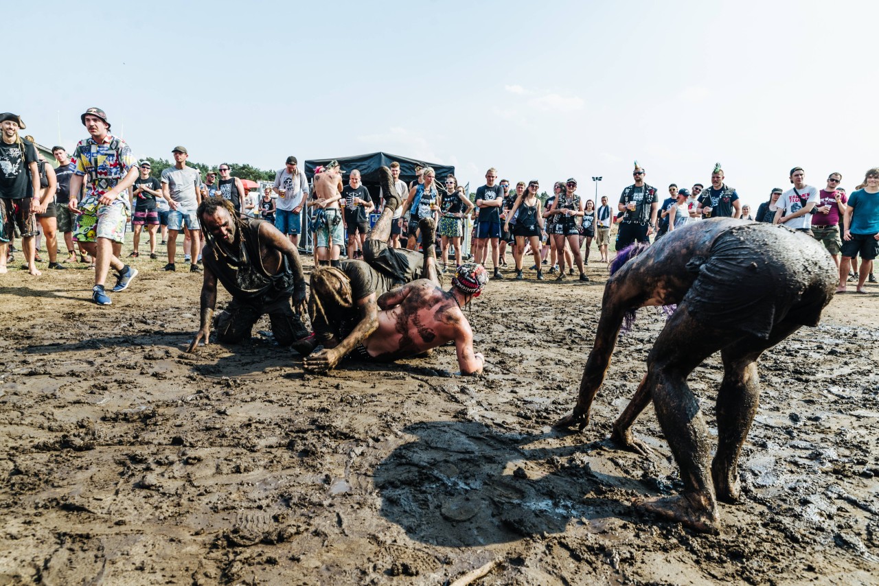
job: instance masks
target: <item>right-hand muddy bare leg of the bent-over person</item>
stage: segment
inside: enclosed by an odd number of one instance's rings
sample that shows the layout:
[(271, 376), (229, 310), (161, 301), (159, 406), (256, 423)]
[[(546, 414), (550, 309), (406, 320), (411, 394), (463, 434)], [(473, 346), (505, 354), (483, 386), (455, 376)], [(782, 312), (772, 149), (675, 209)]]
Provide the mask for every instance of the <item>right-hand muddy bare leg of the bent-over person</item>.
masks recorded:
[(717, 498), (724, 503), (736, 503), (741, 492), (738, 456), (759, 406), (757, 358), (799, 328), (798, 324), (780, 323), (768, 340), (748, 336), (723, 349), (723, 382), (716, 407), (717, 452), (711, 477)]

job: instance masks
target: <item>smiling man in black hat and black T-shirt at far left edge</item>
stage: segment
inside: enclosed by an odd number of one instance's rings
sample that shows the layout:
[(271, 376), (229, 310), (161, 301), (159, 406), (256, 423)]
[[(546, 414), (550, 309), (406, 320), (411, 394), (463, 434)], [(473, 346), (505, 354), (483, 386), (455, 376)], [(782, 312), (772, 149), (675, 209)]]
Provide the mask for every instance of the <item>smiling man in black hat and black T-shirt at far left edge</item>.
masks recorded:
[[(33, 142), (23, 141), (18, 130), (25, 128), (21, 118), (11, 112), (0, 114), (0, 273), (6, 272), (6, 248), (15, 225), (21, 232), (27, 271), (40, 275), (34, 264), (33, 236), (37, 222), (33, 213), (40, 211), (40, 173), (37, 170), (37, 149)], [(30, 176), (30, 177), (28, 177)], [(30, 182), (33, 198), (27, 197)]]

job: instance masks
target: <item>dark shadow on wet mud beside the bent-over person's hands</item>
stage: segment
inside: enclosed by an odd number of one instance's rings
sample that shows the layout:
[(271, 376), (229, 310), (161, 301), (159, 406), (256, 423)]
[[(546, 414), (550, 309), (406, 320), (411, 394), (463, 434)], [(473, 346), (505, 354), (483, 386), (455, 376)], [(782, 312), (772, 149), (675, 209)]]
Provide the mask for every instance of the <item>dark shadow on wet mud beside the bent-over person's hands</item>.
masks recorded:
[[(547, 459), (579, 448), (521, 447), (543, 436), (507, 436), (464, 422), (417, 423), (403, 431), (418, 440), (382, 461), (374, 482), (381, 515), (425, 543), (483, 546), (563, 532), (571, 519), (617, 517), (618, 499), (589, 495), (632, 483), (588, 466), (547, 466)], [(511, 462), (523, 460), (534, 460), (527, 465), (531, 477), (522, 467), (510, 472)]]

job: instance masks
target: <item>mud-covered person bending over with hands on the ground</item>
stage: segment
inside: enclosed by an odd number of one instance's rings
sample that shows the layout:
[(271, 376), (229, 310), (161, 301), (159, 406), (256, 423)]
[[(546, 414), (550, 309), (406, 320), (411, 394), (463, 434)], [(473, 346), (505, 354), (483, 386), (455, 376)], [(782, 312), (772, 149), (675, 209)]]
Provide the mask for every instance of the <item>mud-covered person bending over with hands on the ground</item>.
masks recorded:
[[(577, 406), (556, 427), (583, 430), (589, 422), (623, 321), (631, 325), (638, 307), (677, 304), (650, 350), (647, 374), (614, 423), (612, 439), (645, 453), (631, 428), (652, 399), (684, 491), (637, 504), (696, 531), (716, 533), (716, 499), (735, 503), (739, 497), (739, 452), (759, 402), (757, 359), (801, 326), (817, 325), (833, 295), (835, 266), (808, 236), (717, 218), (674, 230), (652, 246), (623, 250), (611, 272)], [(724, 373), (709, 473), (708, 430), (686, 379), (716, 351)]]

